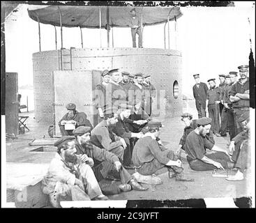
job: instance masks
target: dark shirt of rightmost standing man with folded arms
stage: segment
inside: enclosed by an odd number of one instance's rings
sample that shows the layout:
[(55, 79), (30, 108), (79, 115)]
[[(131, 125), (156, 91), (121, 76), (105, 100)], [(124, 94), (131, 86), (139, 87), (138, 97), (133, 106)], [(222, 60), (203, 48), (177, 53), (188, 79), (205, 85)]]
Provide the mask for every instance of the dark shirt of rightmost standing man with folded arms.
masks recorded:
[[(232, 85), (231, 90), (229, 91), (229, 96), (232, 95), (236, 95), (236, 93), (245, 93), (245, 91), (249, 91), (250, 90), (250, 84), (249, 84), (249, 79), (247, 79), (247, 81), (242, 84), (241, 83), (241, 79), (239, 79), (238, 82), (234, 83)], [(250, 100), (239, 100), (238, 102), (232, 102), (232, 107), (234, 108), (248, 108), (250, 107)]]

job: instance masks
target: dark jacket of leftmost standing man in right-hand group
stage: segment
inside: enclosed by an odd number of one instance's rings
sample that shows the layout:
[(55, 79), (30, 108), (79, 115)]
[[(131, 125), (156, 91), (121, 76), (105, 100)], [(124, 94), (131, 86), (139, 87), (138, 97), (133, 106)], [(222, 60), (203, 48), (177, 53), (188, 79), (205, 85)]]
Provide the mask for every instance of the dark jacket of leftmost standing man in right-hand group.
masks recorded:
[(193, 95), (195, 98), (196, 106), (199, 107), (199, 105), (202, 105), (202, 107), (206, 108), (206, 93), (208, 91), (208, 86), (200, 82), (199, 87), (197, 87), (197, 84), (193, 86)]

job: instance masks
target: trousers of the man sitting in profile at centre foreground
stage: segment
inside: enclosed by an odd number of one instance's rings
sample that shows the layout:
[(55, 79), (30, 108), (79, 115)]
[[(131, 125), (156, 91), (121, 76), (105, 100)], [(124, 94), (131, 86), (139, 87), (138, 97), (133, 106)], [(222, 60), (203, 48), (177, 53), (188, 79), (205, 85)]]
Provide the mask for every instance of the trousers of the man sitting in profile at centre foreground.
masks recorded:
[[(174, 155), (174, 152), (170, 149), (166, 149), (165, 151), (163, 151), (163, 153), (165, 153), (166, 157), (168, 157), (170, 160), (178, 160), (178, 157)], [(162, 169), (163, 167), (167, 166), (154, 158), (150, 162), (145, 162), (144, 164), (142, 164), (142, 166), (137, 169), (137, 171), (142, 175), (151, 175), (155, 174), (156, 171)]]

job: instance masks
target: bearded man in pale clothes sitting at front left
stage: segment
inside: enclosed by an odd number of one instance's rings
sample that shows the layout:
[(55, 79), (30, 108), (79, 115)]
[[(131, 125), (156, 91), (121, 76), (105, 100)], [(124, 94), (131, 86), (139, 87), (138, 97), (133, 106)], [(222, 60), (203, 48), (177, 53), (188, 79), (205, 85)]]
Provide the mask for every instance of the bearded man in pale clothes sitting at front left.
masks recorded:
[(62, 137), (54, 144), (58, 151), (42, 180), (43, 193), (50, 195), (54, 207), (61, 207), (60, 201), (108, 200), (89, 164), (75, 155), (74, 138)]

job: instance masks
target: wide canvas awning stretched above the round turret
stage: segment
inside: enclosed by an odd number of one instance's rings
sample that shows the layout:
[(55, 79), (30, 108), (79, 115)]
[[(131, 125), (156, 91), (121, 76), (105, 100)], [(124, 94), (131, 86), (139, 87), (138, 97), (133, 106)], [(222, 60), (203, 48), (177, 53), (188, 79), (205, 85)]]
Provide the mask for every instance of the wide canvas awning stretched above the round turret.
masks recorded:
[[(128, 27), (130, 10), (136, 9), (144, 26), (161, 24), (181, 17), (179, 7), (121, 7), (109, 6), (110, 26)], [(107, 24), (107, 6), (47, 6), (43, 8), (28, 8), (29, 17), (36, 22), (54, 26), (104, 28)], [(101, 14), (101, 26), (100, 26)], [(61, 21), (60, 21), (61, 15)]]

